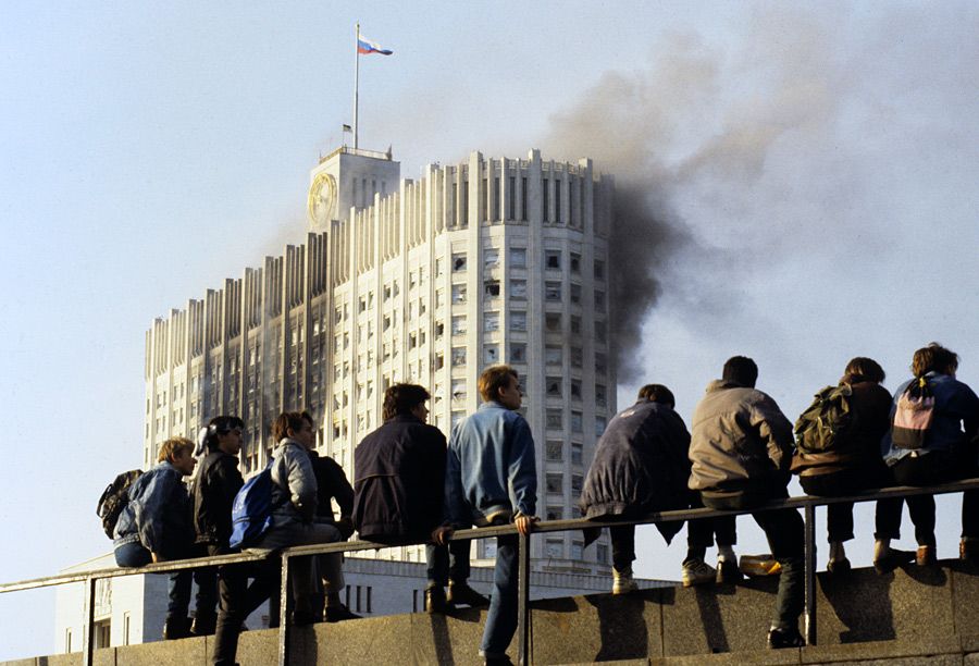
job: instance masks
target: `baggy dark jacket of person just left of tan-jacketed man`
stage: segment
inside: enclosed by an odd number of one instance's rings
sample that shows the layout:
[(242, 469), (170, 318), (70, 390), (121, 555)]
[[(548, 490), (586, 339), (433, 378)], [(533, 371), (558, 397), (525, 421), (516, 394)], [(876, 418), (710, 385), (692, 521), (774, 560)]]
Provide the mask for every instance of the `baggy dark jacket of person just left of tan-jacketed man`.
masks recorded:
[[(686, 425), (669, 406), (641, 399), (620, 411), (598, 440), (581, 513), (602, 519), (689, 507), (689, 448)], [(683, 523), (656, 527), (669, 541)]]

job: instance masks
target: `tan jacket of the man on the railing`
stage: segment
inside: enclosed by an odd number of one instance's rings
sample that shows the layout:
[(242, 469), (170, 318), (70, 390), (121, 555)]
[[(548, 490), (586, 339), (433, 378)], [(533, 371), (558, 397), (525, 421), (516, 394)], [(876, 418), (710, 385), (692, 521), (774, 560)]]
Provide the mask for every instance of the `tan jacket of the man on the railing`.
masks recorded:
[(792, 423), (765, 393), (715, 380), (694, 410), (692, 428), (692, 490), (734, 494), (788, 484)]

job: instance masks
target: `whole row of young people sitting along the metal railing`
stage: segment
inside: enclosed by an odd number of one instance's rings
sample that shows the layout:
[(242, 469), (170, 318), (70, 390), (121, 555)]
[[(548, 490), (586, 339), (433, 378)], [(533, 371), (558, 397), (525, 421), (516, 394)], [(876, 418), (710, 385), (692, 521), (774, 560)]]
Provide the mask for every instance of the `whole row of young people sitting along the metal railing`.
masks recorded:
[[(803, 521), (794, 509), (763, 509), (788, 496), (791, 473), (814, 495), (845, 496), (888, 485), (931, 485), (976, 476), (979, 398), (955, 379), (958, 357), (932, 343), (914, 355), (913, 378), (892, 396), (884, 371), (869, 358), (854, 358), (839, 386), (822, 390), (792, 422), (776, 402), (755, 388), (758, 368), (745, 357), (727, 361), (721, 379), (708, 384), (694, 410), (691, 430), (674, 411), (661, 384), (643, 386), (639, 400), (618, 414), (602, 435), (579, 501), (590, 519), (635, 519), (654, 511), (706, 506), (756, 509), (780, 567), (771, 648), (801, 645)], [(488, 606), (480, 654), (487, 664), (509, 663), (507, 648), (517, 629), (518, 536), (497, 539), (490, 597), (468, 584), (470, 543), (454, 530), (516, 526), (526, 534), (536, 518), (537, 468), (530, 427), (519, 414), (517, 372), (493, 366), (479, 379), (481, 407), (460, 420), (446, 441), (427, 424), (427, 391), (395, 384), (384, 394), (383, 424), (354, 452), (352, 486), (333, 459), (315, 452), (315, 425), (306, 412), (274, 421), (269, 516), (261, 552), (331, 543), (350, 538), (400, 545), (425, 543), (425, 609), (445, 613), (457, 605)], [(198, 442), (163, 443), (159, 464), (128, 488), (128, 503), (114, 530), (120, 566), (234, 552), (236, 497), (245, 480), (238, 466), (243, 421), (211, 420)], [(195, 473), (195, 467), (196, 473)], [(190, 477), (189, 492), (184, 483)], [(333, 511), (333, 502), (339, 517)], [(917, 552), (891, 547), (900, 538), (903, 504), (915, 525)], [(850, 570), (844, 542), (853, 539), (853, 504), (828, 507), (829, 564), (833, 575)], [(682, 522), (658, 522), (667, 542)], [(586, 529), (586, 542), (598, 530)], [(636, 589), (632, 575), (635, 530), (610, 529), (612, 592)], [(891, 570), (916, 560), (935, 562), (934, 501), (931, 495), (881, 499), (877, 504), (875, 566)], [(733, 546), (734, 516), (704, 518), (687, 526), (684, 585), (732, 582), (741, 577)], [(718, 565), (705, 562), (717, 544)], [(963, 499), (963, 558), (979, 559), (979, 492)], [(290, 574), (292, 616), (297, 625), (357, 618), (340, 602), (342, 556), (295, 558)], [(212, 661), (234, 664), (238, 633), (248, 615), (278, 587), (274, 559), (170, 575), (164, 638), (216, 633)], [(198, 595), (188, 618), (191, 580)], [(273, 594), (274, 596), (274, 594)]]

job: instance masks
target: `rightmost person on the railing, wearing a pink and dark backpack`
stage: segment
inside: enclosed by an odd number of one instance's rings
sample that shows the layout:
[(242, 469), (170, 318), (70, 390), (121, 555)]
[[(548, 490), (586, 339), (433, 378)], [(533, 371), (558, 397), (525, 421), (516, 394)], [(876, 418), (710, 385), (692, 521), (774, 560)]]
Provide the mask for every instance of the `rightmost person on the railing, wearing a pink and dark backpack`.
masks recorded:
[[(924, 382), (934, 397), (931, 425), (920, 448), (899, 448), (892, 433), (884, 435), (882, 449), (884, 461), (891, 468), (894, 481), (900, 485), (935, 485), (976, 473), (976, 448), (971, 442), (979, 432), (979, 397), (963, 382), (955, 379), (958, 355), (938, 343), (931, 343), (915, 351), (912, 360), (914, 378), (901, 384), (894, 392), (891, 406), (891, 425), (897, 412), (897, 404), (913, 382)], [(918, 542), (918, 566), (935, 564), (934, 497), (913, 495), (905, 497), (907, 510), (915, 526)], [(878, 503), (877, 543), (875, 548), (900, 536), (902, 501), (888, 499)], [(966, 491), (962, 499), (962, 541), (958, 546), (963, 559), (979, 558), (979, 492)]]

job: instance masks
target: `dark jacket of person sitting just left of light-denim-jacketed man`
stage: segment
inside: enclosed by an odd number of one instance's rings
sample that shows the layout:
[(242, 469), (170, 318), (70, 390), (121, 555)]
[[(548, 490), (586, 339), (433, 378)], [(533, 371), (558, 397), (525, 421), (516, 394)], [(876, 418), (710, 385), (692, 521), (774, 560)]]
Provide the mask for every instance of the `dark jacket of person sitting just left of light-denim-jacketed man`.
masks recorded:
[(372, 541), (427, 539), (442, 525), (446, 442), (411, 415), (384, 422), (354, 449), (354, 526)]

